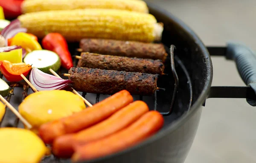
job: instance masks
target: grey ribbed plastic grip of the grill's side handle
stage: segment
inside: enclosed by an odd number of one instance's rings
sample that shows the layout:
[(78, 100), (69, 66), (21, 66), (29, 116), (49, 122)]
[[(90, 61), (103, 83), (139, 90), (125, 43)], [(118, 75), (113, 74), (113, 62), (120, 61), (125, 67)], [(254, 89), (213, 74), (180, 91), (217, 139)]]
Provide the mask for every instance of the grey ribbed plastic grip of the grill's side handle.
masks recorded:
[[(236, 62), (237, 70), (244, 83), (256, 93), (256, 55), (253, 51), (244, 45), (228, 42), (226, 58)], [(256, 106), (255, 100), (246, 100), (250, 105)]]

